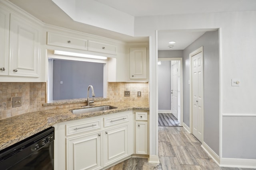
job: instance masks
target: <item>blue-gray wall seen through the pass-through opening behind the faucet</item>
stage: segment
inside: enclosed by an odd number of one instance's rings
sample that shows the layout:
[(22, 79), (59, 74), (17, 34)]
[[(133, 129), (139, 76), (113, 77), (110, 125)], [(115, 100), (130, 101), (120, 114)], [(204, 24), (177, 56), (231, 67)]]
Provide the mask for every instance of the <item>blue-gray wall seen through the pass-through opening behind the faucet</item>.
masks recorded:
[[(103, 97), (102, 63), (54, 60), (53, 100), (86, 98), (89, 85), (94, 87), (96, 97)], [(91, 90), (89, 94), (91, 97)]]

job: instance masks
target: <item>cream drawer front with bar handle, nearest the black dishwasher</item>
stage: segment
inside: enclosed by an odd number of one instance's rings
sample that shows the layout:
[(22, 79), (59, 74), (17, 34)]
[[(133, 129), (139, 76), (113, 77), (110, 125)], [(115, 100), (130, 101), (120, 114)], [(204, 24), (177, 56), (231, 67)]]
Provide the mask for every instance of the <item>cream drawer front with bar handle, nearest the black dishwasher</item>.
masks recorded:
[(101, 120), (86, 121), (66, 125), (66, 136), (73, 135), (80, 132), (91, 131), (101, 128)]

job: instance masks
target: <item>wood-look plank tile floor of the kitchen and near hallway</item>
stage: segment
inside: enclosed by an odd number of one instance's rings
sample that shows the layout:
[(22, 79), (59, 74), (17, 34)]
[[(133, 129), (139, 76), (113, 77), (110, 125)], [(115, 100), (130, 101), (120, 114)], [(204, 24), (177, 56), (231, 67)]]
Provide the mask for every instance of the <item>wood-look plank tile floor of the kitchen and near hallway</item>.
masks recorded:
[(146, 158), (130, 158), (107, 170), (256, 170), (219, 167), (201, 145), (184, 127), (159, 126), (160, 164), (150, 164)]

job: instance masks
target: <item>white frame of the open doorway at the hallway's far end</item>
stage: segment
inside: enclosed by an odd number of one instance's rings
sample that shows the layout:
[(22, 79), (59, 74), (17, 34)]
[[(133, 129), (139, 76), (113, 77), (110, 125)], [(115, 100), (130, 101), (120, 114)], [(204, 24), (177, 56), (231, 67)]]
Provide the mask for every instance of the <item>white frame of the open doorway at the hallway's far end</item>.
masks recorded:
[(177, 57), (177, 58), (158, 58), (158, 61), (180, 61), (180, 125), (184, 125), (184, 120), (183, 120), (183, 63), (182, 63), (182, 57)]

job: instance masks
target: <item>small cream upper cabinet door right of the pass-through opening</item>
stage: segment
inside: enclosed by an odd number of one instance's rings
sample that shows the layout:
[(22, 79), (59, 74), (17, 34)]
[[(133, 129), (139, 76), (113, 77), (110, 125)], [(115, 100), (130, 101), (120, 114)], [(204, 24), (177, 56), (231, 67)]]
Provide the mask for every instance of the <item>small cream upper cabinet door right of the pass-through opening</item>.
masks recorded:
[(147, 78), (146, 47), (130, 48), (130, 79)]

